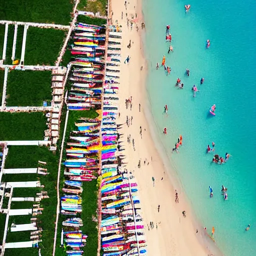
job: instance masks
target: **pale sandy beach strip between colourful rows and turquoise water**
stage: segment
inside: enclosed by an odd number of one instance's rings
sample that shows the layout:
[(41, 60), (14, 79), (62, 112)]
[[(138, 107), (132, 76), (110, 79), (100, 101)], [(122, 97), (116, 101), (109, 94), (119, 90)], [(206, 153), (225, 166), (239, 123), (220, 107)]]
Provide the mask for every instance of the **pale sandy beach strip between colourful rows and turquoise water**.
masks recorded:
[[(138, 183), (147, 253), (149, 256), (210, 254), (203, 242), (204, 230), (193, 221), (183, 192), (172, 186), (171, 177), (165, 171), (149, 132), (145, 116), (146, 60), (141, 45), (144, 31), (141, 29), (141, 0), (129, 0), (126, 6), (124, 0), (111, 0), (109, 14), (114, 24), (117, 22), (122, 25), (118, 92), (120, 116), (117, 123), (122, 124), (119, 132), (122, 134), (121, 149), (125, 150), (120, 152), (125, 155), (126, 168)], [(133, 22), (131, 28), (130, 22), (127, 26), (127, 19), (136, 19), (137, 22)], [(127, 47), (129, 40), (131, 44)], [(124, 63), (127, 56), (130, 57), (129, 63)], [(125, 100), (128, 98), (131, 98), (131, 103), (126, 107)], [(178, 192), (178, 203), (175, 202), (175, 189)], [(182, 215), (183, 210), (186, 211), (186, 217)]]

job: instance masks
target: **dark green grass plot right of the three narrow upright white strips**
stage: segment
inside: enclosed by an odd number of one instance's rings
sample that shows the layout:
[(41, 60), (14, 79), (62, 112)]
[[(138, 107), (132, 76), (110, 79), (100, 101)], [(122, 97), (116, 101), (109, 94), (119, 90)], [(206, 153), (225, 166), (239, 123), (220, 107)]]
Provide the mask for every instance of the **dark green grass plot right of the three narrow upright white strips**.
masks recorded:
[(26, 34), (24, 64), (54, 65), (65, 34), (64, 30), (29, 27)]

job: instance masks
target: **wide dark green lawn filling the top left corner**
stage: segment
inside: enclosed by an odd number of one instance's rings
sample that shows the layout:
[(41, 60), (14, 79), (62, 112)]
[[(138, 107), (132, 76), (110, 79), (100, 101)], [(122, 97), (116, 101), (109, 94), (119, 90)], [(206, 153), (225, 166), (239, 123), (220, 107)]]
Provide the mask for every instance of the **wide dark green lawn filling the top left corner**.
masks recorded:
[(1, 0), (1, 19), (68, 25), (72, 0)]

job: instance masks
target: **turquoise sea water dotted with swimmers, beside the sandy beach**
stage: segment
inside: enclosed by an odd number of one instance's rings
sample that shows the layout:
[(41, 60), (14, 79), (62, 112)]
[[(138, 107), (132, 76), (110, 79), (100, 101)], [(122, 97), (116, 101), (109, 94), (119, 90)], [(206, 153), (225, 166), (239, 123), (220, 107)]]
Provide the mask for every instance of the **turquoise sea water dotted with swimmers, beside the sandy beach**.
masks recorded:
[[(188, 13), (184, 4), (191, 4)], [(224, 255), (256, 255), (256, 2), (144, 0), (143, 13), (152, 113), (189, 202), (203, 226), (211, 230), (214, 225)], [(174, 47), (170, 54), (166, 24)], [(168, 76), (162, 67), (155, 69), (163, 54), (172, 68)], [(177, 77), (184, 83), (182, 90), (174, 86)], [(194, 83), (200, 90), (195, 98)], [(214, 117), (208, 115), (212, 104)], [(179, 134), (183, 145), (179, 154), (172, 154)], [(211, 163), (213, 154), (205, 153), (211, 141), (215, 153), (232, 155), (225, 164)], [(222, 184), (228, 188), (227, 201), (220, 192)], [(246, 232), (247, 224), (251, 228)]]

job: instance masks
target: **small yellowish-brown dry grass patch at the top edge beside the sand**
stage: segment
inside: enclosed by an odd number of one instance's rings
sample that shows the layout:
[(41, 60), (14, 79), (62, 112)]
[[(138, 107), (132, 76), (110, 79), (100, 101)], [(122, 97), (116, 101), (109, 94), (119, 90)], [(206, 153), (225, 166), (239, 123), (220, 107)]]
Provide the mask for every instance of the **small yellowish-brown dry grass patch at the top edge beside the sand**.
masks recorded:
[(94, 14), (99, 12), (101, 16), (106, 16), (107, 0), (80, 0), (78, 10), (91, 11)]

